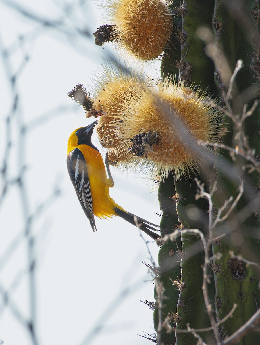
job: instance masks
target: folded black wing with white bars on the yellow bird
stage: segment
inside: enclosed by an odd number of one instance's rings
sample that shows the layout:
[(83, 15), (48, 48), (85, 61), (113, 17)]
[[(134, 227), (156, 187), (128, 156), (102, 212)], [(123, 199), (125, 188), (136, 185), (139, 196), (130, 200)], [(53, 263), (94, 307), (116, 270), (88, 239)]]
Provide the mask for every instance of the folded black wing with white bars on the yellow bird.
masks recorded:
[(80, 204), (90, 221), (92, 230), (97, 231), (93, 215), (92, 197), (86, 160), (80, 149), (76, 148), (69, 152), (67, 156), (67, 168)]

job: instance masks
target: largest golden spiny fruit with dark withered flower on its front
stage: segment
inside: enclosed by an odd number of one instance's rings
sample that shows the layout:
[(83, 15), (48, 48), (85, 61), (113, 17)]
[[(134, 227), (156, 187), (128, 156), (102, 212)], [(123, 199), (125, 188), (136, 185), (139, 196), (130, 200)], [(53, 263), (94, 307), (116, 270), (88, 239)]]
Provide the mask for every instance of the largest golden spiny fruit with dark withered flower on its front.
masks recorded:
[(219, 114), (206, 100), (183, 83), (168, 80), (154, 91), (140, 90), (139, 98), (128, 100), (122, 137), (139, 134), (134, 137), (133, 152), (153, 162), (163, 177), (170, 171), (177, 178), (187, 175), (202, 160), (197, 141), (217, 140)]

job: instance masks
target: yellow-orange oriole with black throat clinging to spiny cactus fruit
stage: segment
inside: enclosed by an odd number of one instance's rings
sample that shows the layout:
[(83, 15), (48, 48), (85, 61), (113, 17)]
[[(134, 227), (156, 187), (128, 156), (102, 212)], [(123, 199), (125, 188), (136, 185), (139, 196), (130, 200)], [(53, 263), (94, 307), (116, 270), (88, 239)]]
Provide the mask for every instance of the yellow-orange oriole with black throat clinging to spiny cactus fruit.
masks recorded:
[[(99, 150), (92, 145), (91, 136), (97, 121), (91, 125), (74, 130), (68, 141), (67, 168), (72, 184), (76, 190), (80, 204), (88, 217), (92, 230), (97, 231), (94, 215), (99, 218), (119, 216), (129, 223), (136, 225), (133, 214), (125, 211), (116, 204), (109, 195), (109, 187), (113, 187), (108, 163), (106, 162), (109, 178), (107, 178), (104, 162)], [(160, 235), (157, 225), (136, 217), (138, 227), (153, 239)]]

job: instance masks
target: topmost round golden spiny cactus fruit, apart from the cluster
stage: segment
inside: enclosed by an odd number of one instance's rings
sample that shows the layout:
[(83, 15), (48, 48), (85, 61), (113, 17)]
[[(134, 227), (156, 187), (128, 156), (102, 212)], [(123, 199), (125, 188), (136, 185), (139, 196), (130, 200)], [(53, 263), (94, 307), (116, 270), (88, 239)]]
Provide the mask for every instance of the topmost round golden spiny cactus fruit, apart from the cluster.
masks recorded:
[(167, 2), (108, 0), (104, 5), (107, 18), (116, 24), (113, 37), (128, 56), (150, 60), (162, 54), (173, 29)]

